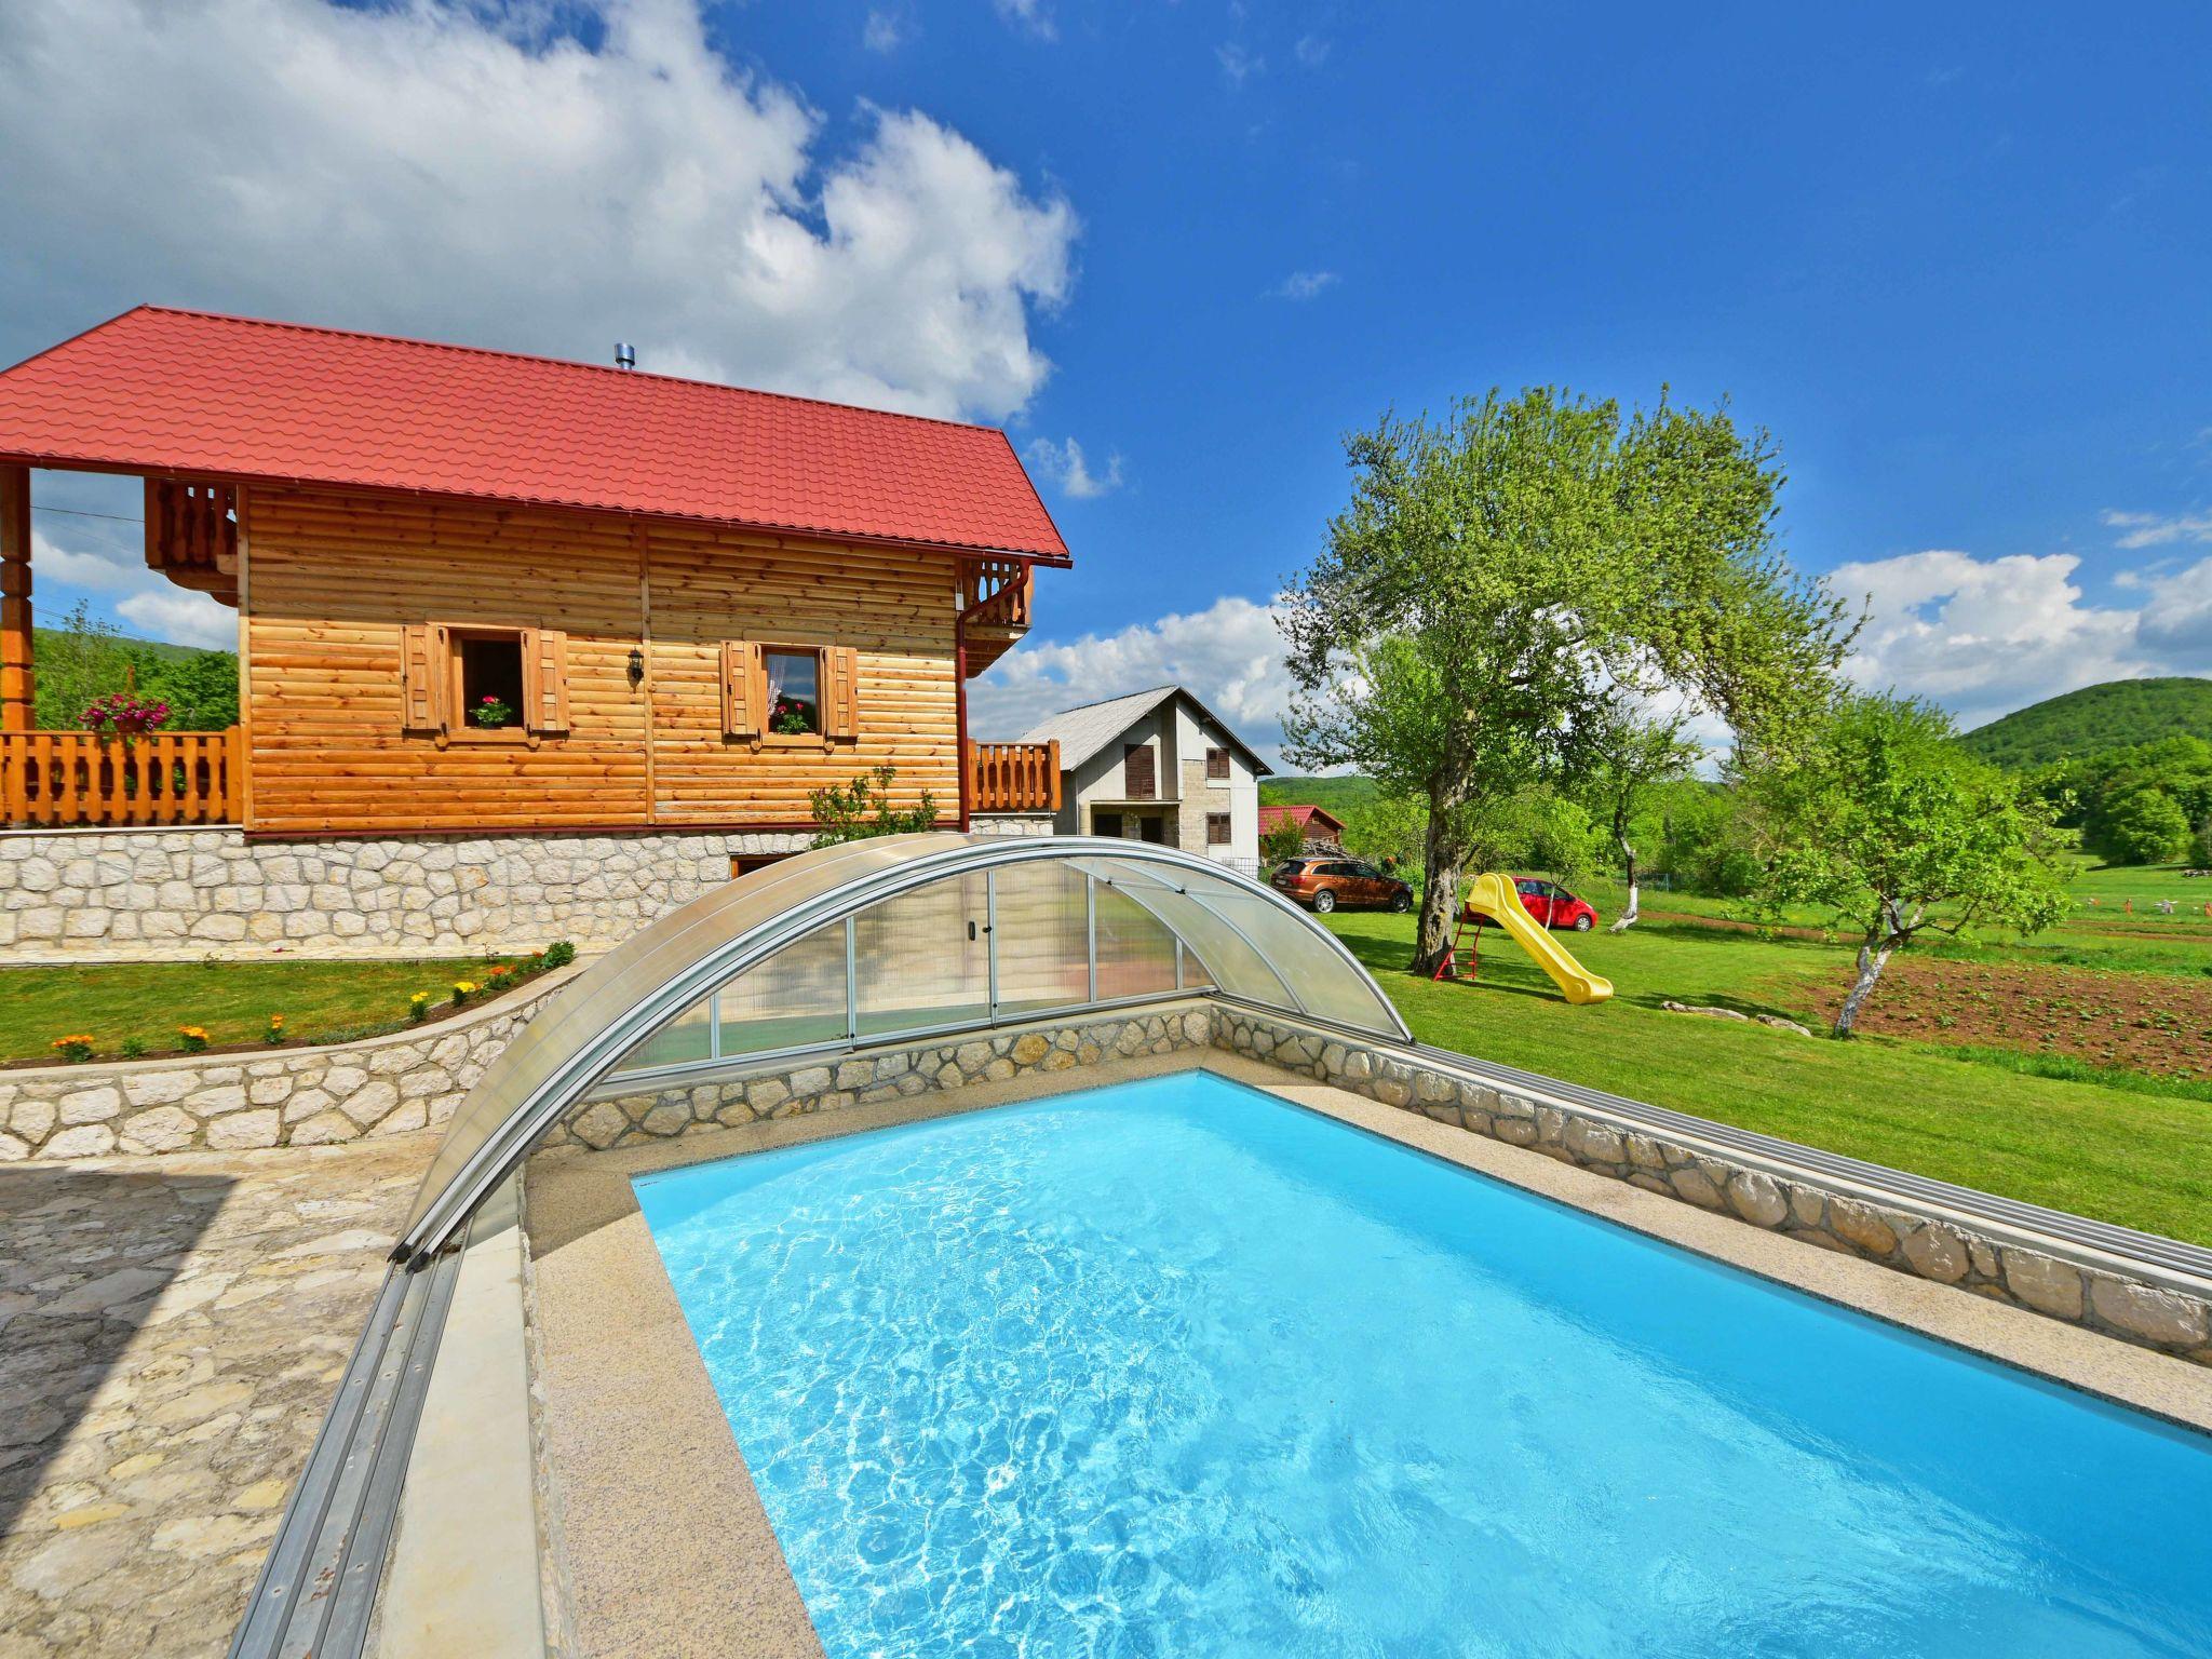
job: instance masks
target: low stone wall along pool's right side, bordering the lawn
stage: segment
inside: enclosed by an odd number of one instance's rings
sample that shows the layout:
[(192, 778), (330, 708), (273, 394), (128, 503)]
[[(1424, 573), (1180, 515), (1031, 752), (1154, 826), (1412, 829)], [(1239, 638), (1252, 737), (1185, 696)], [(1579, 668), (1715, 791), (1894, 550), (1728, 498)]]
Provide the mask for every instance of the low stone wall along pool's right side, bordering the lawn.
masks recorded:
[(1217, 1009), (1214, 1044), (1754, 1228), (2212, 1365), (2212, 1301), (2128, 1276), (2117, 1265), (2064, 1259), (1995, 1230), (1781, 1177), (1637, 1133), (1595, 1110), (1491, 1088), (1287, 1022)]

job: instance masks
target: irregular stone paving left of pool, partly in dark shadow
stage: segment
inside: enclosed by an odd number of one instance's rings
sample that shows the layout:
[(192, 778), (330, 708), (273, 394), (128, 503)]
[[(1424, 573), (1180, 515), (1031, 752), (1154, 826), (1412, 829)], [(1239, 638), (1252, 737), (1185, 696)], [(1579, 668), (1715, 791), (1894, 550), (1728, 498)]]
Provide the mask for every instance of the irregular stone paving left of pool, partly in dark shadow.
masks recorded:
[(0, 1166), (0, 1659), (226, 1650), (434, 1144)]

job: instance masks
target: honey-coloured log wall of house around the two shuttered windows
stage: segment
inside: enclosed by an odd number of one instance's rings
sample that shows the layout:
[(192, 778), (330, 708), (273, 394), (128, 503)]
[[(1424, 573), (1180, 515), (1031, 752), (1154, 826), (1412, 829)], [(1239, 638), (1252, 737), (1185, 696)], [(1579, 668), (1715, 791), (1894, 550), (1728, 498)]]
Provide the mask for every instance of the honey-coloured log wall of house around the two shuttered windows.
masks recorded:
[[(801, 827), (810, 790), (878, 763), (960, 810), (949, 555), (268, 487), (246, 544), (250, 830)], [(411, 622), (566, 633), (568, 732), (407, 730)], [(856, 739), (726, 739), (743, 637), (854, 646)]]

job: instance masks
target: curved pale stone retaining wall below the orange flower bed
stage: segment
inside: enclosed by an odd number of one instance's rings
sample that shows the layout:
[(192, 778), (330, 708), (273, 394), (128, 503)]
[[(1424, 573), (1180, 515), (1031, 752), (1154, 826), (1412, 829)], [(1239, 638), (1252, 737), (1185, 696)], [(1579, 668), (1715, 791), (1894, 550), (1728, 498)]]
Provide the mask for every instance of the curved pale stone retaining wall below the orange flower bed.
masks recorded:
[(365, 1042), (0, 1071), (0, 1161), (330, 1146), (429, 1128), (573, 973)]

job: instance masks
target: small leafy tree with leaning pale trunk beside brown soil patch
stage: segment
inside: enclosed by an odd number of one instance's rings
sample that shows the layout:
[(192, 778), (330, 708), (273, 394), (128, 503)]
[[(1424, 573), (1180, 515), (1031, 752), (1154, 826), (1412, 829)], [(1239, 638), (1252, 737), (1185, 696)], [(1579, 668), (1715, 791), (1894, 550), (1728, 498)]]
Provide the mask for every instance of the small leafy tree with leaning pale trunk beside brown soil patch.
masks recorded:
[(1922, 931), (2000, 922), (2033, 933), (2066, 909), (2051, 805), (1951, 737), (1929, 703), (1840, 697), (1809, 741), (1745, 776), (1767, 898), (1825, 905), (1858, 925), (1838, 1037), (1851, 1035), (1889, 958)]

